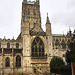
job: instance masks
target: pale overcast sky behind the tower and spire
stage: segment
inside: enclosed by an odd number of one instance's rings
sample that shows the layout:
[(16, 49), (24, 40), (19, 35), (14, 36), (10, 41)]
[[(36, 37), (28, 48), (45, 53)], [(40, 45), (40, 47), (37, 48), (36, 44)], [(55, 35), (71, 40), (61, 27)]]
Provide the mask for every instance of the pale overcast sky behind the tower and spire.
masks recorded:
[[(0, 38), (12, 39), (20, 34), (22, 1), (0, 0)], [(66, 34), (69, 26), (75, 29), (75, 0), (40, 0), (40, 11), (44, 31), (47, 13), (53, 34)]]

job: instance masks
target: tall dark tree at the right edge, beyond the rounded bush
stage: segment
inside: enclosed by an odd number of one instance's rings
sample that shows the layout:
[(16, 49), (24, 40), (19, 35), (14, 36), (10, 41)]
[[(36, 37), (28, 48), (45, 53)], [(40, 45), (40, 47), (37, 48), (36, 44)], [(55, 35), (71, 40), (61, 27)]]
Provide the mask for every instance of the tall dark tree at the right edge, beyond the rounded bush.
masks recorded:
[(72, 61), (75, 62), (75, 30), (73, 32), (72, 42), (70, 42), (68, 46), (65, 58), (68, 65), (71, 65)]

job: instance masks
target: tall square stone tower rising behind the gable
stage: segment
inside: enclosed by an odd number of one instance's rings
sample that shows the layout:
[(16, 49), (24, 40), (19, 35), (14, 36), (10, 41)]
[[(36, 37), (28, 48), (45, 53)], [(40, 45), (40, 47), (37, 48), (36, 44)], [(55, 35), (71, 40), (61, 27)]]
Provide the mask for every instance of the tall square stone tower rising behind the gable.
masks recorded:
[(41, 27), (41, 16), (40, 16), (40, 5), (39, 0), (27, 1), (23, 0), (22, 3), (22, 21), (21, 21), (21, 33), (22, 37), (25, 34), (25, 22), (29, 22), (29, 30), (34, 27), (34, 24), (37, 22)]

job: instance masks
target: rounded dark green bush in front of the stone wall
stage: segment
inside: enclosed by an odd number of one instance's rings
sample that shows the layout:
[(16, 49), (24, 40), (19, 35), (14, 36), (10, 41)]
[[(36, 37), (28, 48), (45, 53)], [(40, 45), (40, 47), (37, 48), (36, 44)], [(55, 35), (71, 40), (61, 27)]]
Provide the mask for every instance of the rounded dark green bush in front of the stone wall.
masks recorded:
[(51, 59), (51, 62), (50, 62), (50, 71), (51, 73), (59, 73), (60, 72), (60, 67), (62, 65), (64, 65), (64, 61), (62, 58), (60, 57), (57, 57), (57, 56), (54, 56), (52, 59)]

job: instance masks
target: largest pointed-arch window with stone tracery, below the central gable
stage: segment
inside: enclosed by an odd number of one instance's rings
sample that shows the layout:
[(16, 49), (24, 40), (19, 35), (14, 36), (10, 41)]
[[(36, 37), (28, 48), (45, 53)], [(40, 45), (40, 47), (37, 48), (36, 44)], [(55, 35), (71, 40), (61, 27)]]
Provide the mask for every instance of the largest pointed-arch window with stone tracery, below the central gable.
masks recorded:
[(37, 37), (32, 43), (32, 57), (43, 57), (44, 56), (44, 44), (42, 40)]

